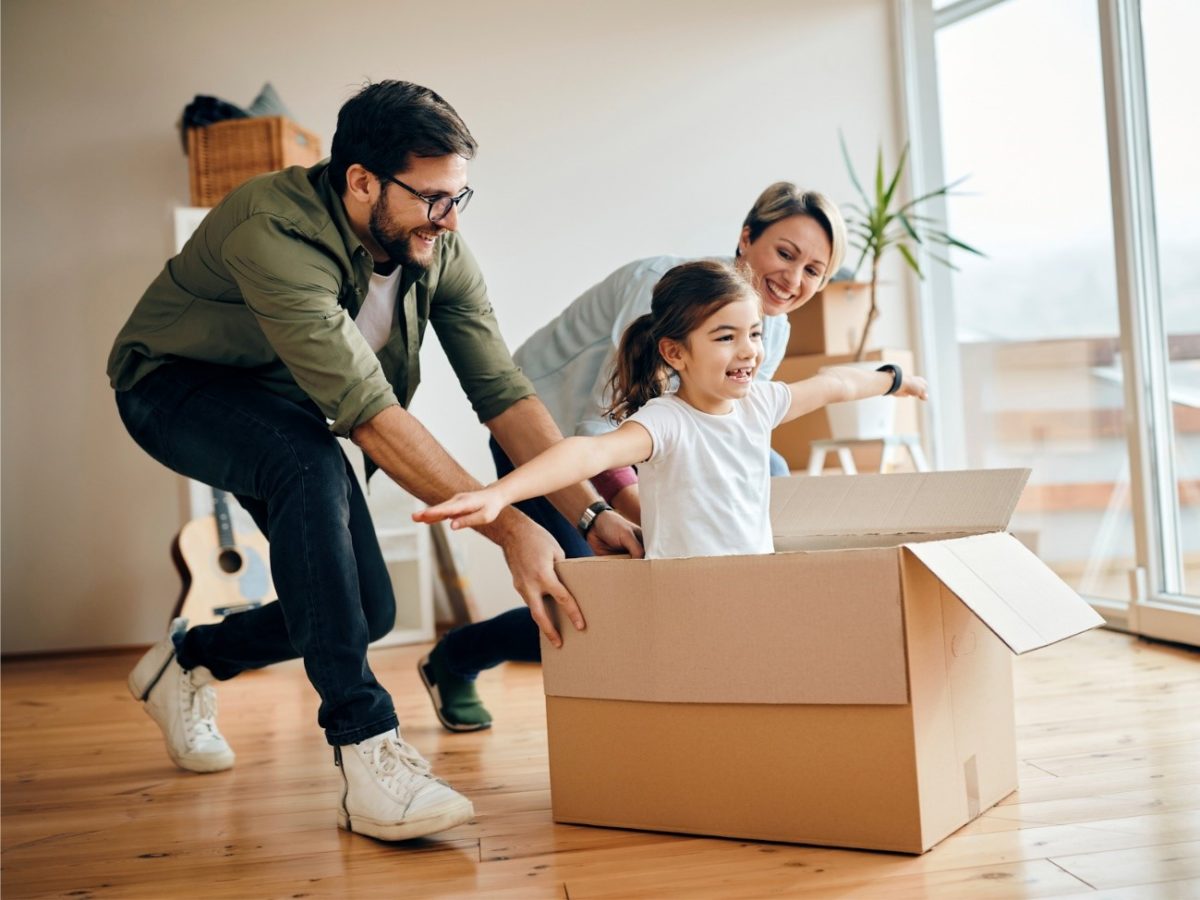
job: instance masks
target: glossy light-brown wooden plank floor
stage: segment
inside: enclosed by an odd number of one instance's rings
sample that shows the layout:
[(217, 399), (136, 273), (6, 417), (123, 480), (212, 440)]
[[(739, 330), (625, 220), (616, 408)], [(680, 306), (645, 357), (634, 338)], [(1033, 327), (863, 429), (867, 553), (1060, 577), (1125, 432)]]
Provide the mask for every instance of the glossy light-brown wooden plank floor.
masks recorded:
[(336, 827), (299, 665), (222, 686), (238, 764), (192, 775), (126, 694), (132, 655), (6, 664), (4, 896), (1200, 898), (1200, 655), (1184, 649), (1093, 631), (1021, 658), (1020, 791), (922, 857), (556, 826), (539, 668), (487, 673), (496, 727), (448, 734), (420, 653), (372, 665), (478, 817), (403, 845)]

